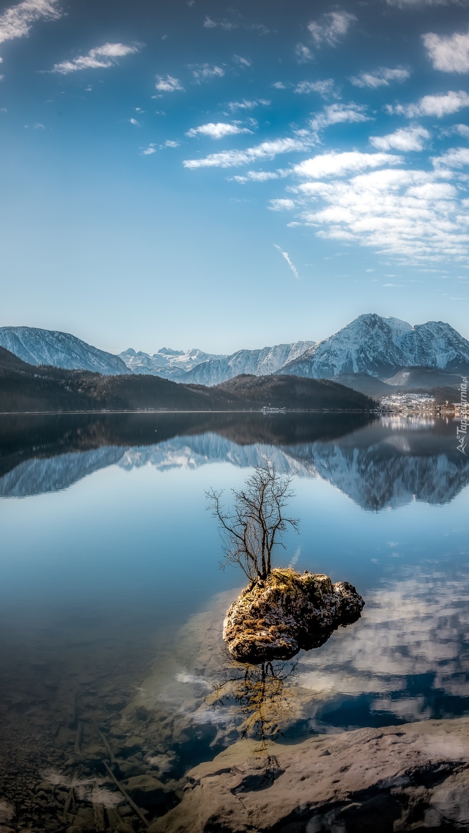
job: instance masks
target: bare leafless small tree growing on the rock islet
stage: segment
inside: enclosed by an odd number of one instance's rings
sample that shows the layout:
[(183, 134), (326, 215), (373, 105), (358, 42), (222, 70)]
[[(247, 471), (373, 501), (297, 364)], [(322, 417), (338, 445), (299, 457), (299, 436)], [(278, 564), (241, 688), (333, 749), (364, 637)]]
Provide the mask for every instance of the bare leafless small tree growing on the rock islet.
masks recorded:
[(256, 466), (244, 489), (232, 490), (232, 510), (222, 505), (222, 491), (207, 491), (208, 508), (220, 525), (226, 555), (221, 562), (223, 569), (227, 564), (238, 564), (251, 581), (267, 578), (272, 570), (273, 547), (284, 547), (278, 538), (288, 526), (298, 529), (297, 518), (282, 514), (294, 496), (291, 482), (290, 476), (279, 474), (267, 460), (265, 466)]

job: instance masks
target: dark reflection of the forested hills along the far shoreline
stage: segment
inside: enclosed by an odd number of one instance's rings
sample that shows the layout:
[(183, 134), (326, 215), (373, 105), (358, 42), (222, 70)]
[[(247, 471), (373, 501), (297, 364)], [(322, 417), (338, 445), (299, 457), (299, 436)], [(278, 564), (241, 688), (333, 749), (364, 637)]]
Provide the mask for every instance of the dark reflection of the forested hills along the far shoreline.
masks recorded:
[[(68, 451), (97, 450), (102, 446), (148, 446), (177, 438), (191, 444), (192, 438), (207, 432), (242, 447), (256, 443), (282, 443), (332, 439), (367, 425), (362, 414), (209, 414), (140, 413), (79, 414), (61, 416), (2, 416), (0, 421), (0, 476), (28, 459), (60, 456)], [(215, 456), (213, 439), (202, 454)], [(220, 458), (221, 459), (221, 458)], [(250, 459), (253, 459), (251, 456)], [(57, 466), (61, 464), (57, 461)], [(242, 464), (241, 464), (242, 465)], [(244, 465), (252, 465), (247, 462)], [(97, 466), (100, 467), (100, 466)]]

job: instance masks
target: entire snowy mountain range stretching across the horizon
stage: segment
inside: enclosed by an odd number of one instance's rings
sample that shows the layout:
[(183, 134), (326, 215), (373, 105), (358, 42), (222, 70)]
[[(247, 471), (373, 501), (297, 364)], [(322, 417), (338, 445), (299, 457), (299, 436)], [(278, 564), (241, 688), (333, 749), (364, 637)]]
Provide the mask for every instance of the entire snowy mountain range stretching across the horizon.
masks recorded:
[[(373, 384), (370, 378), (394, 388), (412, 387), (412, 368), (432, 368), (434, 385), (456, 387), (455, 374), (469, 369), (469, 342), (449, 324), (427, 322), (412, 327), (397, 318), (376, 313), (357, 317), (321, 342), (278, 344), (258, 350), (238, 350), (230, 355), (197, 348), (182, 352), (168, 347), (150, 354), (129, 347), (114, 356), (67, 333), (36, 327), (0, 327), (0, 346), (37, 366), (48, 364), (107, 376), (156, 376), (186, 385), (211, 387), (240, 374), (260, 377), (272, 373), (336, 379), (356, 387), (350, 380), (358, 379), (357, 374), (361, 374), (359, 389), (379, 393), (384, 392), (382, 386)], [(409, 373), (408, 377), (404, 372)], [(442, 373), (444, 379), (438, 382), (437, 377)]]

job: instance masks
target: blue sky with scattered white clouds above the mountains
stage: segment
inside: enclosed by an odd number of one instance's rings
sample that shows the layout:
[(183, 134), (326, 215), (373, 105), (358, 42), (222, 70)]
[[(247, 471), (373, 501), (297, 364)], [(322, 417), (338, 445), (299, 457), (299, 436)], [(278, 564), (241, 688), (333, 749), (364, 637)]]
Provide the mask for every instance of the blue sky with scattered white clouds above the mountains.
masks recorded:
[(0, 325), (469, 337), (469, 4), (0, 4)]

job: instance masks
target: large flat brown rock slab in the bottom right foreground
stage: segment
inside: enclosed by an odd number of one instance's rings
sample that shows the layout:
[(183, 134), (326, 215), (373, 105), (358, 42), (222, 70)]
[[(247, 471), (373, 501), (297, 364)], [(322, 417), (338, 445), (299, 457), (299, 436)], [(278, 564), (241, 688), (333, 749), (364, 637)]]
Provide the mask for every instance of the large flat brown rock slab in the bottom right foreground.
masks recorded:
[[(238, 741), (187, 773), (149, 833), (417, 833), (469, 829), (469, 719)], [(262, 777), (263, 776), (263, 777)]]

